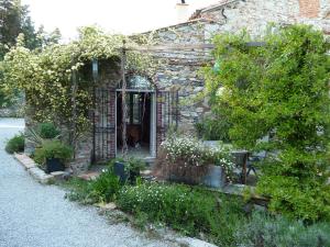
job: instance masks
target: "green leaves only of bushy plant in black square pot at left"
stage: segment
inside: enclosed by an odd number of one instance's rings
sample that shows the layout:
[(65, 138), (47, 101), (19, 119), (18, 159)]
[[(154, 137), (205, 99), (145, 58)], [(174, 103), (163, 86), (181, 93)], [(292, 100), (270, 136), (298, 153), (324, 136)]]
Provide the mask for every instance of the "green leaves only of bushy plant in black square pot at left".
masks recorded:
[(43, 166), (47, 159), (57, 158), (62, 162), (67, 162), (73, 157), (73, 148), (58, 139), (44, 142), (41, 148), (36, 148), (34, 160)]

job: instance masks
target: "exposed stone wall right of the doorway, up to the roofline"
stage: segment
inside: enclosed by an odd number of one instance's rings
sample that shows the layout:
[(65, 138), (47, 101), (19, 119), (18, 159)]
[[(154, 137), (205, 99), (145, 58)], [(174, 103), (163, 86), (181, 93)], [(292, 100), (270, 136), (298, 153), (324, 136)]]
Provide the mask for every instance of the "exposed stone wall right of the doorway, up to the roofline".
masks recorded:
[[(270, 23), (284, 25), (306, 23), (330, 32), (329, 0), (237, 0), (224, 3), (221, 8), (201, 11), (197, 20), (157, 30), (155, 32), (157, 43), (160, 45), (210, 43), (216, 34), (239, 33), (243, 29), (255, 40), (262, 40), (262, 34)], [(160, 89), (179, 90), (179, 125), (185, 131), (194, 131), (194, 124), (209, 112), (207, 101), (190, 100), (204, 91), (205, 82), (199, 71), (201, 67), (212, 63), (209, 52), (165, 50), (154, 56), (163, 61), (157, 67), (156, 85)]]

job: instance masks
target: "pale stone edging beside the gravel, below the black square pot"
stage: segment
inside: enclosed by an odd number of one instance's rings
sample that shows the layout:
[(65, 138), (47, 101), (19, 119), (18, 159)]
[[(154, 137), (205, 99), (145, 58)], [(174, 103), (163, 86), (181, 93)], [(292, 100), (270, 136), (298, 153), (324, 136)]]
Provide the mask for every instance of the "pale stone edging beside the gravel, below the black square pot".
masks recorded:
[(43, 169), (38, 168), (35, 161), (25, 154), (14, 154), (13, 157), (23, 166), (31, 177), (42, 184), (54, 183), (56, 180), (63, 179), (67, 172), (55, 171), (47, 175)]

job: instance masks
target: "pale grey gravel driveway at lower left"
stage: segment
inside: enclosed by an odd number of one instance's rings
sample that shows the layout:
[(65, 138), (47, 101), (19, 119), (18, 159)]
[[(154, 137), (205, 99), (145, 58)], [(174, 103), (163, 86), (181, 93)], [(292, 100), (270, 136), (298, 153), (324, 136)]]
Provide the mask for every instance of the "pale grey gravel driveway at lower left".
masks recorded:
[(23, 124), (0, 119), (0, 247), (173, 246), (124, 224), (110, 225), (96, 209), (65, 200), (61, 188), (35, 182), (3, 150)]

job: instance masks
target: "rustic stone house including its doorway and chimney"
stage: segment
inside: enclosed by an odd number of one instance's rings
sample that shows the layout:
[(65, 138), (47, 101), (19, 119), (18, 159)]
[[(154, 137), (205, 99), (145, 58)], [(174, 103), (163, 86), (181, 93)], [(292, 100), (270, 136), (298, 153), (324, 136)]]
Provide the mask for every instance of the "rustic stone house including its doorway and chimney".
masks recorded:
[[(186, 8), (179, 3), (178, 8)], [(186, 11), (182, 11), (186, 13)], [(222, 0), (217, 4), (196, 10), (191, 16), (180, 16), (186, 22), (153, 31), (158, 46), (167, 49), (152, 50), (160, 63), (153, 78), (128, 75), (128, 143), (129, 153), (155, 157), (160, 143), (172, 125), (193, 131), (194, 124), (209, 111), (206, 101), (189, 99), (204, 90), (200, 68), (211, 63), (210, 50), (205, 48), (170, 48), (210, 44), (215, 34), (238, 33), (246, 29), (255, 40), (270, 22), (289, 25), (312, 24), (330, 34), (329, 0)], [(141, 35), (150, 35), (151, 32)], [(96, 90), (94, 132), (77, 148), (73, 168), (87, 169), (91, 159), (100, 161), (120, 156), (121, 150), (121, 89), (120, 67), (113, 64), (106, 74), (102, 86)], [(111, 75), (111, 76), (109, 76)], [(188, 102), (188, 103), (187, 103)]]

